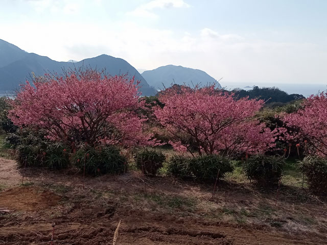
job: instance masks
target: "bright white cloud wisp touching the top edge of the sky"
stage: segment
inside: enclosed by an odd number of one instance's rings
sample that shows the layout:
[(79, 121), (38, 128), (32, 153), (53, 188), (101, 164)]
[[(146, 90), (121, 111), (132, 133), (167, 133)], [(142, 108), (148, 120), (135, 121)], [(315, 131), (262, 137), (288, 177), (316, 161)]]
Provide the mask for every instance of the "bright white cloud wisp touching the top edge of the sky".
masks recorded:
[(151, 2), (137, 7), (127, 15), (135, 17), (150, 17), (157, 18), (158, 16), (153, 13), (154, 9), (171, 9), (171, 8), (189, 8), (190, 5), (186, 4), (184, 0), (152, 0)]

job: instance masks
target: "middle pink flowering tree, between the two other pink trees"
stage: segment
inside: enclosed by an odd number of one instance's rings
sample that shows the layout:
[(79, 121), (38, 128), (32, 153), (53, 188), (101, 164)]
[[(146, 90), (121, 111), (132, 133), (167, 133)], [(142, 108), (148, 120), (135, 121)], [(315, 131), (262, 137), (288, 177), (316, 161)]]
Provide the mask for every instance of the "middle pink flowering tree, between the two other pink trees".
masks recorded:
[(236, 100), (214, 86), (168, 89), (159, 100), (165, 107), (157, 107), (154, 113), (177, 151), (192, 153), (195, 146), (199, 155), (236, 157), (264, 153), (275, 146), (274, 132), (254, 119), (263, 101)]

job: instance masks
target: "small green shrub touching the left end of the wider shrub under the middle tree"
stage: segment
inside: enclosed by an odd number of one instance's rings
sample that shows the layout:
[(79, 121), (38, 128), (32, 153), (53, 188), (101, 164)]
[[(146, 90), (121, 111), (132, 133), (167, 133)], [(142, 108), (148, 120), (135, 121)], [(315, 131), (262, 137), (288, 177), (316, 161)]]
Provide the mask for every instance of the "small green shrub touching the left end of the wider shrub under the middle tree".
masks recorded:
[(190, 158), (174, 155), (168, 161), (167, 171), (176, 178), (189, 179), (194, 177), (189, 166)]

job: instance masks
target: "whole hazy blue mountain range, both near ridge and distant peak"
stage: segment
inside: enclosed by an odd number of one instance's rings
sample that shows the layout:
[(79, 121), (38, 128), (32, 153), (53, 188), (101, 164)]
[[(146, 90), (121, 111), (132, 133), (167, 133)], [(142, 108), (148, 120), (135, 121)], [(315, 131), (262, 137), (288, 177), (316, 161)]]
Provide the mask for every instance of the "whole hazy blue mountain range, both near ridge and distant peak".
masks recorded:
[[(32, 72), (36, 76), (44, 73), (62, 74), (62, 70), (74, 69), (87, 66), (98, 70), (106, 69), (107, 74), (112, 76), (128, 74), (135, 76), (135, 80), (141, 81), (143, 95), (154, 95), (157, 89), (170, 87), (173, 83), (186, 85), (207, 85), (216, 82), (206, 72), (198, 69), (185, 68), (182, 66), (167, 65), (154, 70), (147, 70), (142, 75), (127, 61), (108, 55), (84, 59), (82, 61), (69, 60), (58, 62), (46, 56), (27, 53), (19, 47), (0, 39), (0, 90), (15, 90), (19, 84), (30, 79)], [(217, 87), (221, 87), (217, 83)]]

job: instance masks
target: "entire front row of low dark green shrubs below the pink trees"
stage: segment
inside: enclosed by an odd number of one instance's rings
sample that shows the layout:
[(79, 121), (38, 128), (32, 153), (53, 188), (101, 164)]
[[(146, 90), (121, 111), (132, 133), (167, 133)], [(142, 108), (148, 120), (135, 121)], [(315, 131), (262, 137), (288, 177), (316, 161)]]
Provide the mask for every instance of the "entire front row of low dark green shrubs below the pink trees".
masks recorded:
[[(42, 132), (22, 130), (20, 134), (9, 134), (7, 140), (16, 149), (21, 167), (64, 168), (73, 162), (78, 169), (84, 170), (85, 160), (85, 173), (89, 175), (122, 174), (127, 171), (127, 159), (113, 146), (92, 148), (83, 145), (72, 155), (67, 145), (45, 139)], [(135, 155), (136, 167), (149, 176), (155, 176), (165, 160), (164, 154), (154, 150), (139, 151)], [(284, 165), (283, 158), (264, 155), (251, 156), (242, 164), (248, 179), (263, 187), (278, 184)], [(298, 168), (313, 191), (327, 192), (326, 158), (307, 156), (299, 162)], [(218, 174), (218, 178), (224, 178), (232, 170), (230, 161), (218, 155), (194, 158), (175, 155), (167, 162), (168, 173), (181, 179), (212, 181)]]

